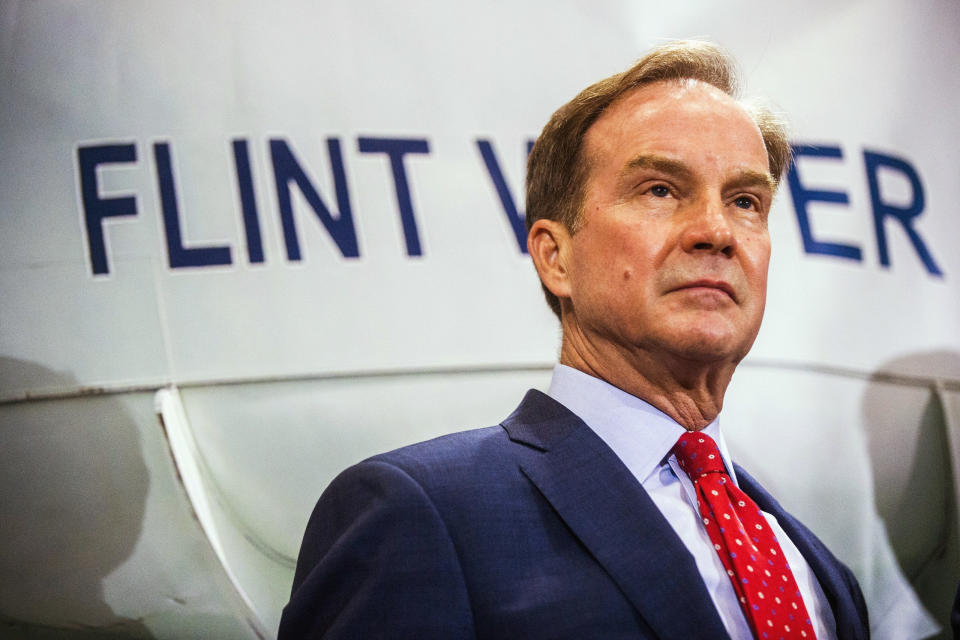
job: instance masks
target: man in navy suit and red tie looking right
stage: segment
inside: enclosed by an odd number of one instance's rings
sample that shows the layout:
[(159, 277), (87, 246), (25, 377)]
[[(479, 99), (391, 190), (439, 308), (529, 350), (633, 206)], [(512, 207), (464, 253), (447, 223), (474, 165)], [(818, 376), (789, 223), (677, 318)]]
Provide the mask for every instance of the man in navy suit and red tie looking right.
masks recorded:
[(789, 159), (733, 84), (715, 47), (673, 43), (554, 114), (527, 176), (563, 328), (549, 394), (341, 474), (281, 637), (867, 637), (849, 570), (719, 430)]

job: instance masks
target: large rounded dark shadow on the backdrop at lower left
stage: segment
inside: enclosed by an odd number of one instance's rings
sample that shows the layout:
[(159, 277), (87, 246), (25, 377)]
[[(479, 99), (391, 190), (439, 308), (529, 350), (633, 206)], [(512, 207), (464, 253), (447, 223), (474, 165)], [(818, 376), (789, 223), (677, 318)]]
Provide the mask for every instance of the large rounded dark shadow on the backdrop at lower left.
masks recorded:
[[(77, 382), (0, 358), (0, 388), (39, 380), (54, 389)], [(4, 403), (0, 442), (0, 637), (151, 637), (114, 614), (102, 586), (133, 552), (149, 488), (137, 425), (121, 401)]]

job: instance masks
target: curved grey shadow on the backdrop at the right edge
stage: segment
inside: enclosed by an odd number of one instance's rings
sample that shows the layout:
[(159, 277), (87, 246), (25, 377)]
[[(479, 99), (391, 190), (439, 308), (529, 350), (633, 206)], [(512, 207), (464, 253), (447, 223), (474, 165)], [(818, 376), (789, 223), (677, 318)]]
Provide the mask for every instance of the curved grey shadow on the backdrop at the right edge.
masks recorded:
[[(949, 433), (938, 380), (960, 393), (960, 354), (892, 360), (871, 377), (862, 407), (877, 512), (904, 575), (946, 638), (960, 580), (957, 461), (950, 447), (960, 433)], [(953, 422), (956, 429), (956, 416)]]

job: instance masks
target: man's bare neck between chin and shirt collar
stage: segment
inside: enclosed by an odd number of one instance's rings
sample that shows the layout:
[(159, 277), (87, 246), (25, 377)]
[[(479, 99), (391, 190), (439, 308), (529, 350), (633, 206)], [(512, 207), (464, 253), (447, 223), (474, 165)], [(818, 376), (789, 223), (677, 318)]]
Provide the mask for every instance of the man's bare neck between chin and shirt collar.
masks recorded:
[(710, 424), (736, 363), (701, 362), (641, 349), (624, 352), (606, 343), (589, 344), (565, 333), (560, 364), (600, 378), (641, 398), (691, 431)]

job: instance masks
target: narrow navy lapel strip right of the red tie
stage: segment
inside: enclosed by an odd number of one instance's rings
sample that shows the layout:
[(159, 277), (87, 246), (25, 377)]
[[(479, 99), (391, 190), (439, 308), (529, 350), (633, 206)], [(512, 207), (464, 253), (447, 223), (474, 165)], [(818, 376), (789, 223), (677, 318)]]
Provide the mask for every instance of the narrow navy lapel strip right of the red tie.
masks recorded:
[(813, 533), (803, 526), (797, 519), (784, 511), (780, 503), (760, 486), (746, 471), (736, 466), (737, 480), (743, 491), (750, 496), (757, 505), (773, 515), (784, 532), (790, 536), (791, 542), (803, 555), (810, 565), (820, 588), (833, 610), (833, 617), (837, 624), (838, 638), (864, 638), (861, 616), (857, 610), (851, 594), (851, 585), (843, 575), (840, 561), (823, 546), (823, 543)]

